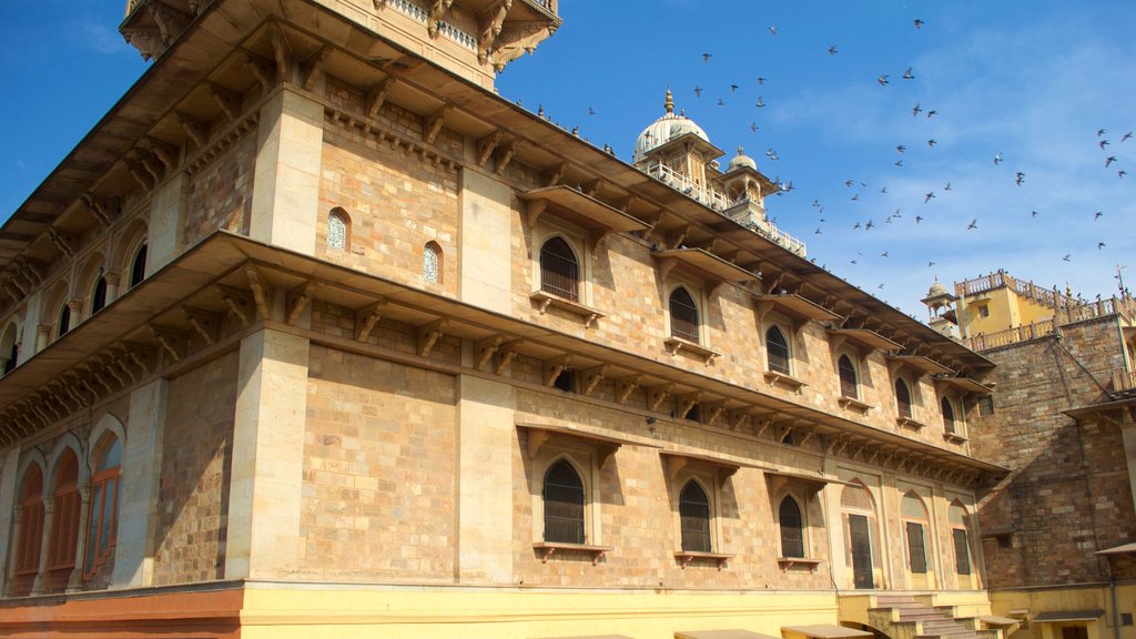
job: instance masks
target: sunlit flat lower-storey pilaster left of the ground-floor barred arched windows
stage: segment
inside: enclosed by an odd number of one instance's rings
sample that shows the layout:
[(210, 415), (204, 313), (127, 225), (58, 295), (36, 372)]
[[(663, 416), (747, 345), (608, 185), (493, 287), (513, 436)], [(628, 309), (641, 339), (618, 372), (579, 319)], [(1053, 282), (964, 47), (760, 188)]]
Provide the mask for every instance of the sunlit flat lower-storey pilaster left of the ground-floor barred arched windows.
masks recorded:
[(509, 384), (461, 375), (458, 398), (458, 581), (512, 580), (516, 396)]

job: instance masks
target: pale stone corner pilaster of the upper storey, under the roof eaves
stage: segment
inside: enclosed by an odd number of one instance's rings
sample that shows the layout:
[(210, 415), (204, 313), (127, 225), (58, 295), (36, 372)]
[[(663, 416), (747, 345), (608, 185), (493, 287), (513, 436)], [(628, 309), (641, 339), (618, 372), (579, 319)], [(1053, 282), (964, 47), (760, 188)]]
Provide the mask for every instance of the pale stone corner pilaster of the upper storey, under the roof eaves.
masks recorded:
[(324, 106), (284, 85), (261, 107), (249, 235), (316, 251)]

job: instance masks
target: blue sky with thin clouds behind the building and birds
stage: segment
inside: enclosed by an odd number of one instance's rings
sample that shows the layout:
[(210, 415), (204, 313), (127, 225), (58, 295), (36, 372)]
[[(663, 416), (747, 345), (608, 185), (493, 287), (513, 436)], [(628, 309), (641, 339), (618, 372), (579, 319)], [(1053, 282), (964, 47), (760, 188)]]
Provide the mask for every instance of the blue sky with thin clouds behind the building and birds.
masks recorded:
[[(124, 6), (0, 3), (0, 73), (19, 91), (0, 102), (0, 215), (148, 67), (117, 34)], [(767, 207), (810, 258), (919, 318), (935, 276), (1005, 268), (1093, 298), (1136, 255), (1131, 0), (560, 0), (560, 14), (499, 77), (503, 97), (629, 161), (669, 86), (722, 164), (744, 146), (793, 183)], [(1125, 276), (1133, 288), (1136, 262)]]

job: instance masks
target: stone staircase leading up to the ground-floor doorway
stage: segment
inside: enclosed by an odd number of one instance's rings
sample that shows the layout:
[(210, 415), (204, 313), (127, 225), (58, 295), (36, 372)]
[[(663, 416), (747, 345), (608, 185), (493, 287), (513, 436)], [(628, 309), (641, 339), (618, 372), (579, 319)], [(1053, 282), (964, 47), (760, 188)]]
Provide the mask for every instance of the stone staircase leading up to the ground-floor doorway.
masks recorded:
[(892, 639), (1002, 639), (999, 630), (979, 630), (975, 617), (955, 616), (952, 606), (933, 607), (930, 596), (880, 595), (868, 615)]

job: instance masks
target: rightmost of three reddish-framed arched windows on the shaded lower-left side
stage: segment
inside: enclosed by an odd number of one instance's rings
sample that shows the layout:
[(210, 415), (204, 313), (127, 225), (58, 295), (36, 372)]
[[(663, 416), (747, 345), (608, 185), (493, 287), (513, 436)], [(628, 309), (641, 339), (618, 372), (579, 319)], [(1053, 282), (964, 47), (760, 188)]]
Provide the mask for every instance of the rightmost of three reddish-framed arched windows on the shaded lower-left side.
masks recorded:
[(91, 478), (91, 512), (86, 529), (86, 557), (83, 574), (93, 576), (114, 555), (118, 529), (118, 483), (122, 475), (122, 445), (106, 434), (95, 448), (94, 475)]

